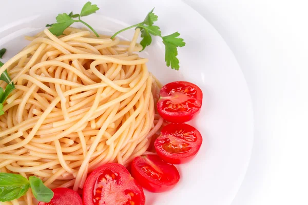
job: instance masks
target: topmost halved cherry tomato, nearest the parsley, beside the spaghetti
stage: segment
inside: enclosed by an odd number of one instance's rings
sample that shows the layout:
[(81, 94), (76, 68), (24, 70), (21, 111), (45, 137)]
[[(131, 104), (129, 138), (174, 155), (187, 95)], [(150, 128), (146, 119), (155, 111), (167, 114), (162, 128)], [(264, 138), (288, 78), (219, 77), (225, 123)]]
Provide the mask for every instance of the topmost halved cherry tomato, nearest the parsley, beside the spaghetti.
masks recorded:
[(157, 103), (158, 113), (167, 121), (182, 123), (200, 112), (202, 91), (195, 84), (176, 81), (162, 87)]

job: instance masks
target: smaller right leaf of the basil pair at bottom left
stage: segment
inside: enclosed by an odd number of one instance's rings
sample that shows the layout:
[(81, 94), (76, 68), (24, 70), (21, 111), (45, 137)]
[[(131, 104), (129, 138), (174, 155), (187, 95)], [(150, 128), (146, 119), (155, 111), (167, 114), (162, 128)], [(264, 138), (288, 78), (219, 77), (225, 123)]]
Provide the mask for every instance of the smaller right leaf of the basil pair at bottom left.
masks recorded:
[(53, 197), (53, 192), (51, 191), (51, 189), (46, 187), (43, 181), (35, 176), (30, 176), (29, 181), (33, 196), (38, 201), (50, 202)]

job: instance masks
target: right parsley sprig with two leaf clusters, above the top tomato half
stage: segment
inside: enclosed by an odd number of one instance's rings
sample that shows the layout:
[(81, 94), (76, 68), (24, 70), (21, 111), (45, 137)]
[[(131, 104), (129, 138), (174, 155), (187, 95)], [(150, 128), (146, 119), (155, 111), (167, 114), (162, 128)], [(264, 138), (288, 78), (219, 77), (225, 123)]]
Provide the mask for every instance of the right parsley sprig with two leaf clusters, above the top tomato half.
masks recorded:
[(154, 22), (157, 21), (158, 16), (153, 13), (154, 9), (152, 9), (143, 22), (139, 24), (132, 25), (125, 29), (122, 29), (111, 36), (111, 39), (117, 36), (119, 33), (126, 31), (131, 28), (140, 28), (142, 40), (140, 45), (142, 46), (142, 50), (144, 50), (147, 46), (152, 43), (152, 36), (159, 36), (163, 39), (163, 44), (165, 45), (165, 61), (167, 66), (171, 67), (172, 69), (179, 70), (180, 68), (180, 61), (177, 58), (178, 55), (178, 47), (185, 46), (185, 42), (183, 38), (179, 38), (180, 33), (175, 32), (170, 35), (162, 36), (160, 27), (154, 26)]

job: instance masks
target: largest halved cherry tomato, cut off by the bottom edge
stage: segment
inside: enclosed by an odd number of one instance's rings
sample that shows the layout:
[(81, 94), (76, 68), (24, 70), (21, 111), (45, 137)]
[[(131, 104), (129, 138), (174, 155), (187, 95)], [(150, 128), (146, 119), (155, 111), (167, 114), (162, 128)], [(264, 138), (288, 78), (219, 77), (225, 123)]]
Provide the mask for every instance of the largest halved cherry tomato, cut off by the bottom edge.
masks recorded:
[(142, 187), (119, 163), (108, 163), (94, 170), (83, 189), (85, 205), (144, 205)]

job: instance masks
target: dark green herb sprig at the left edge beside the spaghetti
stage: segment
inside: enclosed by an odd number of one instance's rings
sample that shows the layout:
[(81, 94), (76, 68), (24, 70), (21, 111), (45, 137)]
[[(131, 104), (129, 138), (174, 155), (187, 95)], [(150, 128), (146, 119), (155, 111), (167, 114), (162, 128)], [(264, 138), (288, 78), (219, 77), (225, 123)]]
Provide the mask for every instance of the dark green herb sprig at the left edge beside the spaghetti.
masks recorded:
[[(0, 57), (2, 58), (2, 56), (5, 54), (6, 49), (1, 49), (0, 50)], [(4, 63), (2, 63), (0, 61), (0, 67), (2, 67), (4, 65)], [(11, 78), (7, 72), (7, 70), (5, 70), (1, 75), (0, 75), (0, 80), (5, 81), (8, 85), (5, 87), (5, 90), (3, 90), (2, 87), (0, 87), (0, 115), (4, 114), (3, 109), (3, 103), (6, 100), (6, 98), (9, 96), (9, 94), (15, 89), (15, 85), (12, 82), (11, 83)]]

